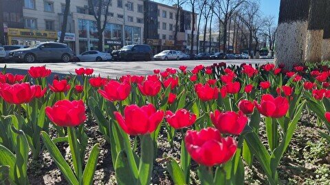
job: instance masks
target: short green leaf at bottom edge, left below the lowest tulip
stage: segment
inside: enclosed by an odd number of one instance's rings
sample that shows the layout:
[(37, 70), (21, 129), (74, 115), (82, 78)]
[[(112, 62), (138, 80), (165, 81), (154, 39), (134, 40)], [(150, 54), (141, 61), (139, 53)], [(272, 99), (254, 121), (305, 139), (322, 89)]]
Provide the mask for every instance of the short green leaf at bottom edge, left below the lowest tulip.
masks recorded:
[(166, 169), (168, 170), (168, 173), (170, 173), (170, 177), (172, 177), (174, 184), (178, 184), (178, 185), (188, 184), (188, 182), (186, 182), (185, 180), (184, 172), (179, 167), (179, 164), (177, 164), (175, 159), (173, 158), (168, 159), (168, 162), (166, 162)]

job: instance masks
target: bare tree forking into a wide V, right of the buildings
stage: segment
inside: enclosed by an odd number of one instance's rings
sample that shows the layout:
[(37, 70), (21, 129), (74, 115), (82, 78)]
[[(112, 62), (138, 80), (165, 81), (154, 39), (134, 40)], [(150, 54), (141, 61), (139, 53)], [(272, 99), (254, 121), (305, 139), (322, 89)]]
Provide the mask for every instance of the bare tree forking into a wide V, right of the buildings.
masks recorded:
[(216, 10), (214, 13), (217, 15), (223, 25), (223, 52), (227, 52), (227, 29), (230, 17), (237, 10), (245, 0), (218, 0), (215, 6)]

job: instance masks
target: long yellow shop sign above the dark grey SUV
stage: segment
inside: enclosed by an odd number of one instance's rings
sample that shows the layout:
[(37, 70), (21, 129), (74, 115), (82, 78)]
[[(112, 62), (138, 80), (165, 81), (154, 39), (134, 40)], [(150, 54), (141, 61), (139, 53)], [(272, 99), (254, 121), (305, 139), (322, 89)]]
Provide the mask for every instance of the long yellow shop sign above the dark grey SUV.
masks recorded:
[(8, 36), (21, 36), (29, 38), (50, 38), (56, 39), (57, 33), (50, 31), (39, 31), (31, 29), (17, 29), (17, 28), (8, 28)]

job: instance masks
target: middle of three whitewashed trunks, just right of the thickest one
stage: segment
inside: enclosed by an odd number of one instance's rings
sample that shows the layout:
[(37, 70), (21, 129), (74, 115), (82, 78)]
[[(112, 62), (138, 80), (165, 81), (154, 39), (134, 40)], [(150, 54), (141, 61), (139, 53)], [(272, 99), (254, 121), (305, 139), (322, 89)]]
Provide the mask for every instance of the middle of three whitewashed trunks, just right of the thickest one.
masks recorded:
[(311, 0), (309, 7), (305, 62), (320, 62), (322, 57), (323, 25), (327, 0)]

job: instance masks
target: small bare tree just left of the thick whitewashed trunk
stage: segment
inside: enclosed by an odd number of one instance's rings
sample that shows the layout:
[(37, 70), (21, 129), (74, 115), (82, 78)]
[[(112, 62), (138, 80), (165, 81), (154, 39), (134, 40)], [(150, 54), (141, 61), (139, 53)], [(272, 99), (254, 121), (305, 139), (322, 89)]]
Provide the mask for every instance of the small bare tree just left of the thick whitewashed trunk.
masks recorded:
[(267, 37), (270, 51), (274, 51), (275, 36), (277, 30), (274, 19), (274, 16), (267, 16), (265, 18), (265, 27), (263, 27), (263, 34)]

